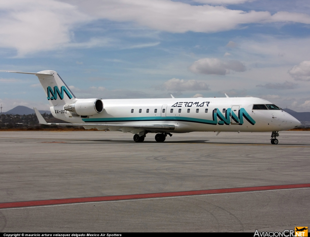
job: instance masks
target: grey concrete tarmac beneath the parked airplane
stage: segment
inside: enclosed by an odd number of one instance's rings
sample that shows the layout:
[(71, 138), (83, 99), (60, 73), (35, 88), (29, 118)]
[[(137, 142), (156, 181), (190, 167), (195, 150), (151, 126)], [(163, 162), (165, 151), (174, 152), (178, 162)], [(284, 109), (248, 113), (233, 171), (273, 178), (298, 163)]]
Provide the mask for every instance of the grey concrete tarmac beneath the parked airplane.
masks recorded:
[[(1, 131), (0, 232), (254, 232), (310, 226), (310, 188), (14, 207), (37, 200), (310, 183), (310, 132)], [(281, 186), (282, 187), (282, 186)], [(86, 200), (83, 199), (83, 200)], [(82, 199), (81, 199), (82, 200)], [(87, 199), (88, 200), (88, 199)], [(91, 200), (91, 199), (89, 199)]]

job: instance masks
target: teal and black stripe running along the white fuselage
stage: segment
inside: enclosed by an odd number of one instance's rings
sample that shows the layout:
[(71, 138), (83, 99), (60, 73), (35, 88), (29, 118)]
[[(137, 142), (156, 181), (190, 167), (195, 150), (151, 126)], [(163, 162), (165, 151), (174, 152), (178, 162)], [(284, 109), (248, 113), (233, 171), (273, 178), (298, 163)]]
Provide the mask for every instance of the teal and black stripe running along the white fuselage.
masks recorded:
[(185, 121), (185, 122), (196, 122), (204, 124), (217, 124), (217, 117), (215, 120), (189, 118), (189, 117), (178, 117), (178, 116), (167, 116), (167, 117), (126, 117), (126, 118), (82, 118), (86, 123), (108, 123), (108, 122), (136, 122), (136, 121)]

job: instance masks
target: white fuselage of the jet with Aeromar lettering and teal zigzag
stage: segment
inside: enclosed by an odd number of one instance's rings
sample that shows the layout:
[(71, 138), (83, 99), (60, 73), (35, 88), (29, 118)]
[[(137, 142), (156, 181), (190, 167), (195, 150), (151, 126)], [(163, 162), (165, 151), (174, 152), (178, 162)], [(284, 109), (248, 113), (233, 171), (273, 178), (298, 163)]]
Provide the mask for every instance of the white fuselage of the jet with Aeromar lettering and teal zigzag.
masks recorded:
[[(143, 124), (175, 125), (173, 131), (169, 130), (171, 133), (272, 132), (292, 129), (301, 124), (281, 109), (253, 109), (253, 104), (272, 104), (267, 100), (254, 97), (103, 99), (102, 102), (104, 109), (101, 113), (84, 116), (84, 118), (65, 111), (63, 105), (52, 106), (50, 110), (54, 117), (70, 123), (85, 124), (84, 127), (88, 129), (95, 127), (91, 124)], [(122, 131), (126, 132), (126, 130)]]

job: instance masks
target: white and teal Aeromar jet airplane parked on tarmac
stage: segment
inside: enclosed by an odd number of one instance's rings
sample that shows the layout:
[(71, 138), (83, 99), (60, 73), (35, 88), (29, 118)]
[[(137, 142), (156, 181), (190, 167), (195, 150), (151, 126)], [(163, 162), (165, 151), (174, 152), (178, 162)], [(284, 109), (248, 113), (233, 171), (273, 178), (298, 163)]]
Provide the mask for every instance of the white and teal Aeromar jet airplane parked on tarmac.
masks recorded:
[(59, 74), (52, 70), (14, 72), (36, 75), (55, 118), (68, 123), (47, 123), (33, 108), (39, 124), (83, 126), (85, 129), (131, 132), (135, 142), (155, 133), (164, 142), (171, 133), (194, 131), (272, 132), (278, 144), (279, 131), (301, 123), (271, 102), (255, 97), (164, 98), (164, 99), (78, 99)]

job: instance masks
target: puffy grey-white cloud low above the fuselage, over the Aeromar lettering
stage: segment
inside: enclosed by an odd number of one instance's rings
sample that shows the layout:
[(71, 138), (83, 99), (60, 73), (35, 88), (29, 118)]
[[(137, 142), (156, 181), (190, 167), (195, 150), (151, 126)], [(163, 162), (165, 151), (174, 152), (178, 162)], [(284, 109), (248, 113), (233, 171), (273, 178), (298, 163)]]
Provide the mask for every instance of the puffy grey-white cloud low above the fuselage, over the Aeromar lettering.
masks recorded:
[(172, 78), (164, 82), (157, 89), (164, 89), (170, 91), (191, 91), (191, 90), (210, 90), (205, 82), (198, 82), (196, 80), (184, 81), (184, 79)]

